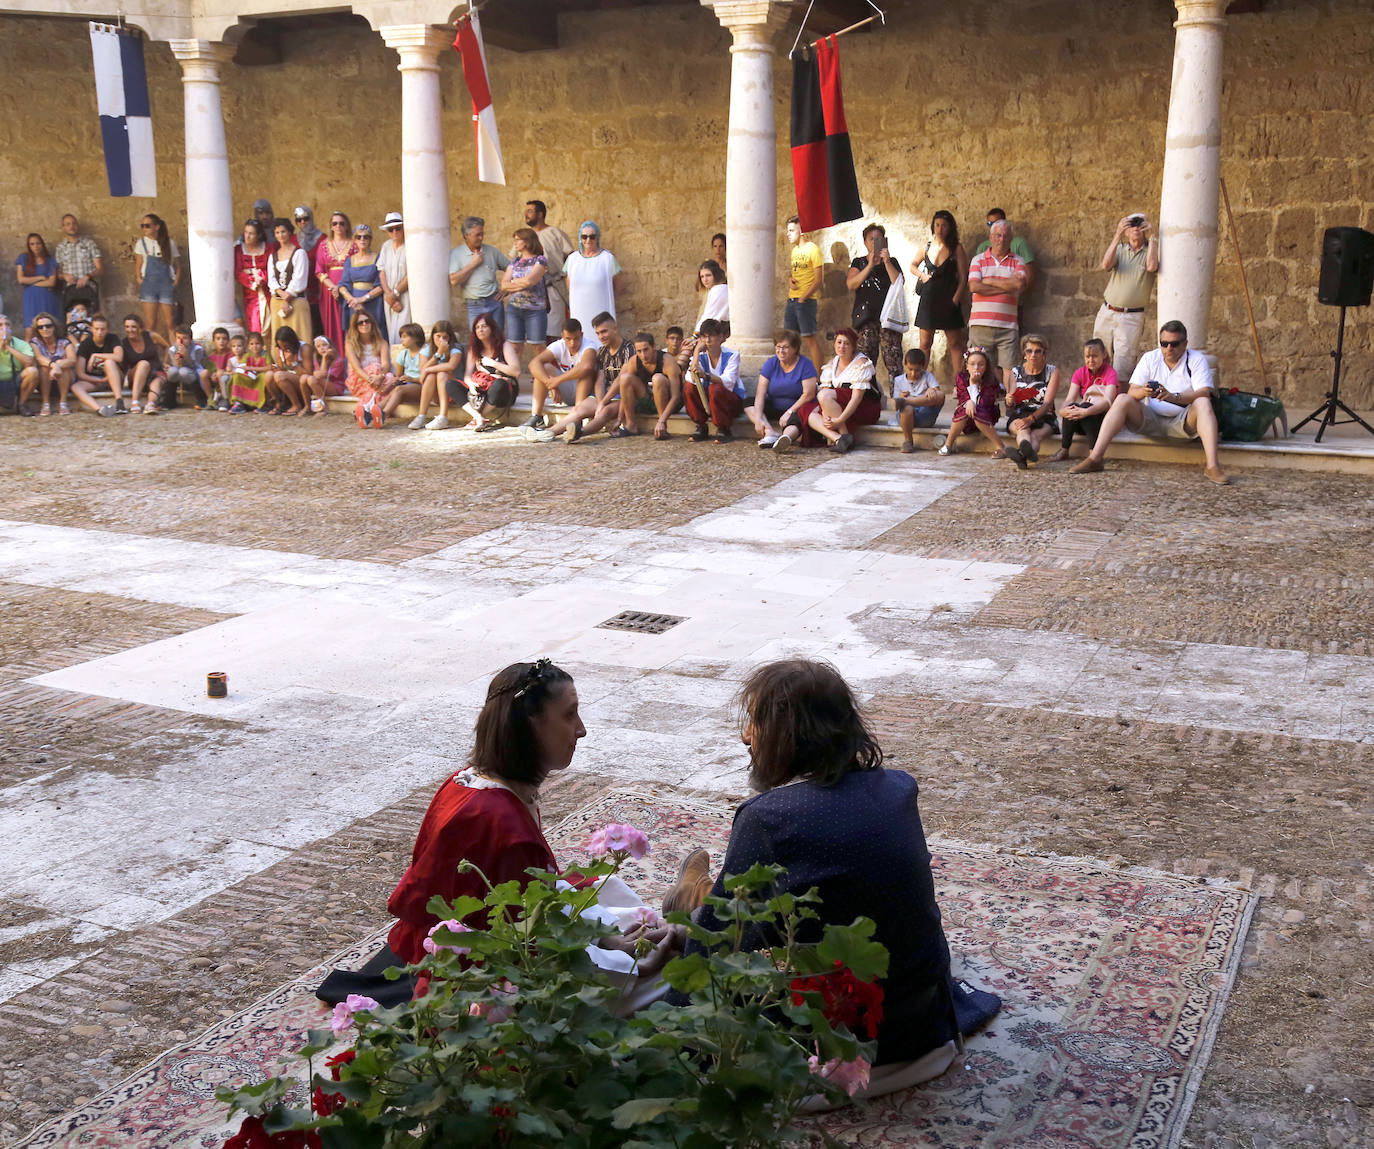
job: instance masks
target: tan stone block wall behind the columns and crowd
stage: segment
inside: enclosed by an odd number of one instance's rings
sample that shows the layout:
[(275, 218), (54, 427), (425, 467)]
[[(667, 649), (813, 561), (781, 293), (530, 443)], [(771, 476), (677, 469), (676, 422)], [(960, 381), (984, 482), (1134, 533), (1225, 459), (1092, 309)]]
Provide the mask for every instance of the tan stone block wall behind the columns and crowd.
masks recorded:
[[(1004, 208), (1039, 257), (1029, 326), (1050, 337), (1055, 361), (1076, 364), (1116, 220), (1131, 209), (1158, 220), (1172, 5), (890, 7), (886, 29), (841, 41), (866, 219), (888, 225), (907, 267), (936, 209), (954, 212), (971, 253), (985, 236), (987, 208)], [(730, 36), (695, 5), (559, 21), (555, 52), (488, 49), (507, 187), (477, 183), (459, 60), (452, 52), (441, 59), (455, 242), (458, 220), (471, 213), (486, 219), (489, 242), (504, 247), (523, 201), (541, 198), (570, 235), (584, 219), (600, 224), (625, 268), (622, 327), (690, 324), (699, 308), (695, 267), (710, 234), (724, 227)], [(397, 56), (356, 16), (290, 19), (283, 29), (280, 63), (225, 69), (236, 213), (245, 217), (267, 195), (282, 214), (304, 202), (320, 219), (344, 210), (376, 227), (401, 203)], [(794, 210), (782, 40), (779, 219)], [(113, 257), (107, 289), (115, 311), (133, 300), (128, 253), (140, 213), (157, 210), (179, 242), (185, 235), (180, 69), (165, 44), (151, 44), (147, 59), (159, 195), (117, 201), (106, 194), (85, 23), (0, 16), (0, 74), (22, 96), (0, 118), (8, 159), (0, 170), (0, 254), (12, 264), (30, 230), (55, 243), (60, 213), (76, 210)], [(1294, 408), (1315, 404), (1330, 382), (1337, 324), (1337, 311), (1316, 302), (1322, 231), (1374, 230), (1374, 23), (1366, 0), (1274, 3), (1227, 19), (1224, 59), (1221, 172), (1264, 382)], [(1227, 385), (1259, 389), (1224, 213), (1221, 227), (1209, 348)], [(842, 278), (861, 249), (860, 230), (856, 221), (818, 236), (834, 263), (826, 328), (848, 319)], [(779, 317), (785, 246), (779, 236)], [(0, 294), (16, 311), (12, 272)], [(1149, 330), (1156, 320), (1151, 309)], [(1345, 348), (1345, 394), (1374, 405), (1369, 311), (1351, 312)], [(936, 352), (943, 372), (938, 338)]]

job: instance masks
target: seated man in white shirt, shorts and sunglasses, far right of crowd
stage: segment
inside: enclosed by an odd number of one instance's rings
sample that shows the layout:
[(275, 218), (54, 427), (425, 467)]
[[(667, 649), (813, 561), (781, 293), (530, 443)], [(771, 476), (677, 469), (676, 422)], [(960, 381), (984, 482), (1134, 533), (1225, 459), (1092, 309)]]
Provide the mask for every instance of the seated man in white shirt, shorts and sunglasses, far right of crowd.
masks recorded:
[(1125, 394), (1118, 394), (1106, 415), (1092, 454), (1074, 463), (1073, 474), (1102, 470), (1107, 444), (1121, 429), (1150, 438), (1201, 440), (1206, 456), (1204, 474), (1219, 487), (1226, 477), (1217, 458), (1220, 438), (1212, 410), (1212, 368), (1202, 352), (1189, 350), (1189, 330), (1171, 319), (1160, 328), (1160, 346), (1140, 356)]

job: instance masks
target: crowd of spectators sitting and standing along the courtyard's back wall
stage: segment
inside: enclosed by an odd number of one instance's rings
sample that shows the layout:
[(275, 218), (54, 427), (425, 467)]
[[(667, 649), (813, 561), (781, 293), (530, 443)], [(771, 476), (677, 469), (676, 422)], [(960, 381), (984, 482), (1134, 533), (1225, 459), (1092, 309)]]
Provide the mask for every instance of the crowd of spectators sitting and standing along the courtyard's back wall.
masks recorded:
[[(157, 214), (142, 219), (133, 245), (142, 315), (120, 322), (122, 338), (99, 311), (103, 256), (67, 214), (55, 250), (30, 234), (15, 261), (23, 338), (5, 322), (0, 394), (8, 382), (18, 408), (29, 414), (23, 400), (37, 392), (40, 415), (70, 414), (73, 397), (103, 416), (157, 414), (180, 397), (195, 408), (319, 418), (328, 414), (330, 397), (352, 393), (364, 427), (383, 426), (403, 404), (415, 404), (414, 430), (447, 430), (458, 408), (463, 425), (481, 433), (504, 425), (528, 372), (532, 410), (521, 432), (532, 441), (576, 441), (600, 430), (627, 438), (639, 434), (639, 415), (653, 415), (653, 437), (666, 440), (669, 416), (683, 411), (695, 425), (694, 441), (728, 443), (745, 416), (763, 448), (826, 445), (844, 454), (859, 429), (890, 405), (901, 449), (911, 452), (914, 432), (934, 426), (947, 403), (929, 370), (938, 331), (954, 371), (941, 455), (954, 452), (962, 436), (981, 434), (993, 458), (1028, 469), (1051, 436), (1059, 440), (1051, 460), (1068, 459), (1073, 440), (1083, 437), (1090, 455), (1073, 471), (1087, 474), (1102, 469), (1113, 437), (1129, 429), (1201, 440), (1208, 477), (1226, 481), (1210, 371), (1204, 356), (1187, 349), (1182, 324), (1165, 323), (1160, 348), (1136, 359), (1160, 265), (1143, 214), (1124, 217), (1107, 245), (1103, 302), (1066, 389), (1048, 361), (1046, 337), (1021, 334), (1036, 258), (1000, 208), (988, 210), (988, 238), (973, 256), (955, 217), (934, 214), (929, 239), (910, 264), (914, 322), (907, 319), (905, 274), (886, 231), (867, 224), (863, 252), (845, 269), (851, 323), (827, 335), (827, 353), (818, 322), (824, 261), (790, 219), (783, 326), (753, 386), (727, 345), (724, 234), (712, 236), (712, 254), (697, 268), (701, 302), (690, 333), (671, 326), (660, 345), (650, 331), (621, 334), (621, 265), (602, 246), (600, 227), (584, 220), (574, 243), (547, 216), (541, 201), (529, 201), (523, 225), (503, 245), (486, 242), (481, 217), (462, 221), (449, 283), (466, 311), (464, 345), (448, 320), (429, 331), (411, 322), (398, 212), (385, 216), (386, 239), (374, 246), (371, 225), (354, 227), (342, 212), (320, 230), (305, 205), (278, 217), (258, 199), (234, 249), (245, 334), (217, 328), (202, 346), (174, 322), (181, 254)], [(908, 327), (915, 327), (918, 346), (904, 353)], [(98, 403), (99, 392), (111, 401)]]

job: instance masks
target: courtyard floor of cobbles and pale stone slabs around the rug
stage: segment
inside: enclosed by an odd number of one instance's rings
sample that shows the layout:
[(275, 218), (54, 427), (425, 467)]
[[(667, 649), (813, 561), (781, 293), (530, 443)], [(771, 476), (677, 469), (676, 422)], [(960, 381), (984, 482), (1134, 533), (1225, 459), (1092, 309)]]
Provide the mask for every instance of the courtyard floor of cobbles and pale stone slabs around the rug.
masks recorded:
[(1374, 481), (1237, 478), (0, 422), (0, 1144), (382, 924), (495, 667), (577, 675), (558, 816), (741, 794), (732, 684), (791, 651), (932, 833), (1263, 895), (1186, 1145), (1374, 1144)]

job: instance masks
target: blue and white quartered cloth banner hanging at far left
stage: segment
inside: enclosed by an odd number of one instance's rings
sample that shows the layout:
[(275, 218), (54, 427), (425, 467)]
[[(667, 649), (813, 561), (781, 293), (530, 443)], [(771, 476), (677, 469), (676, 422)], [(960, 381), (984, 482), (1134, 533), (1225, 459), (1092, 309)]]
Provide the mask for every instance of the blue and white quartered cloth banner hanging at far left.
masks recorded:
[(92, 23), (91, 56), (110, 195), (157, 195), (143, 37), (129, 29)]

